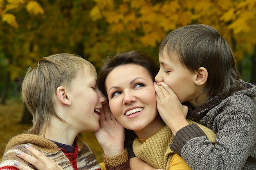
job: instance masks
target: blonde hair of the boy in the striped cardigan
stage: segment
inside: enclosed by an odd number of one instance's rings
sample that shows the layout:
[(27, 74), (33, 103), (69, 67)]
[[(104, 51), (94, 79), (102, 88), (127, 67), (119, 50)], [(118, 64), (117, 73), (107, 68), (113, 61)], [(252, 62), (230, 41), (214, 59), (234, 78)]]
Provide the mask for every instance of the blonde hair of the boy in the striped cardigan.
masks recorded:
[(29, 133), (41, 135), (50, 115), (61, 119), (54, 105), (56, 89), (70, 86), (76, 75), (83, 74), (85, 70), (97, 77), (96, 69), (90, 62), (67, 53), (43, 57), (28, 68), (21, 86), (21, 97), (33, 115), (33, 126)]

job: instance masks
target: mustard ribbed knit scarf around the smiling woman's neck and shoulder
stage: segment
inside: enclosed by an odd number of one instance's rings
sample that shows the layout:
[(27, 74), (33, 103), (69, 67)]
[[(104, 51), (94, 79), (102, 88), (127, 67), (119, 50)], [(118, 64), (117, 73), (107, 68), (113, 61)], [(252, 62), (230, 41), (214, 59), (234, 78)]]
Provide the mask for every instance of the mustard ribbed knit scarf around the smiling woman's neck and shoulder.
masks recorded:
[[(187, 120), (189, 124), (197, 124), (191, 120)], [(214, 144), (216, 134), (209, 128), (198, 124), (209, 141)], [(207, 138), (206, 137), (206, 138)], [(139, 159), (144, 160), (154, 168), (170, 170), (170, 163), (173, 157), (173, 150), (169, 144), (173, 140), (173, 133), (168, 126), (164, 126), (161, 130), (150, 136), (144, 143), (141, 143), (138, 137), (135, 138), (132, 144), (133, 152)], [(173, 162), (175, 163), (175, 162)], [(185, 167), (182, 167), (185, 168)]]

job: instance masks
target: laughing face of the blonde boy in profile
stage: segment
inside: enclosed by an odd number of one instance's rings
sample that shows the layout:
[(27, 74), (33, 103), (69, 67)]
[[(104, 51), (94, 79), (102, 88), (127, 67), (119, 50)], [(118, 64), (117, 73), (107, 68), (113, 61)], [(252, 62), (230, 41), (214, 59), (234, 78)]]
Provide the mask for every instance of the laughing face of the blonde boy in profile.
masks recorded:
[(78, 132), (95, 132), (99, 129), (99, 113), (105, 102), (103, 94), (97, 88), (97, 77), (85, 69), (83, 74), (77, 75), (69, 92), (72, 113), (66, 119)]

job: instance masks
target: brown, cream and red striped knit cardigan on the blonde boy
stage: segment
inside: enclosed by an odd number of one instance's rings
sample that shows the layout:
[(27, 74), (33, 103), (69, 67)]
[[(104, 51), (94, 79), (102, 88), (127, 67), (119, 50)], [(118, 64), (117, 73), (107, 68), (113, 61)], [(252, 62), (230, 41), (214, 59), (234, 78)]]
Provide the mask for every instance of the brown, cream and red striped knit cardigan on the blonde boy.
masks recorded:
[[(64, 152), (52, 141), (39, 137), (38, 135), (32, 134), (22, 134), (13, 137), (4, 151), (4, 155), (0, 162), (0, 170), (18, 170), (14, 166), (14, 162), (18, 161), (23, 165), (36, 170), (36, 168), (27, 163), (23, 159), (16, 156), (16, 151), (22, 151), (31, 155), (25, 149), (25, 144), (29, 144), (46, 155), (49, 159), (52, 159), (55, 163), (61, 166), (64, 170), (100, 170), (99, 163), (92, 152), (91, 148), (85, 144), (79, 137), (75, 139), (75, 152), (77, 152), (76, 157), (69, 160)], [(116, 157), (107, 157), (103, 155), (104, 162), (106, 163), (107, 170), (129, 170), (128, 163), (128, 153), (125, 150)], [(115, 164), (112, 164), (115, 162)], [(101, 164), (103, 169), (105, 165)]]

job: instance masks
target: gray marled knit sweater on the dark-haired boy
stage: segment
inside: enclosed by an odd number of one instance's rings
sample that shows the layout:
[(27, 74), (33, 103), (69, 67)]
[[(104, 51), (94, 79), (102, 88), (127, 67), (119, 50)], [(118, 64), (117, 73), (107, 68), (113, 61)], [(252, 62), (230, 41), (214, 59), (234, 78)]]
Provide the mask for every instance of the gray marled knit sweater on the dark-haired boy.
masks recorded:
[(199, 108), (189, 106), (188, 119), (217, 134), (216, 144), (195, 124), (180, 129), (170, 148), (192, 170), (256, 170), (256, 86), (240, 80), (243, 90), (211, 97)]

